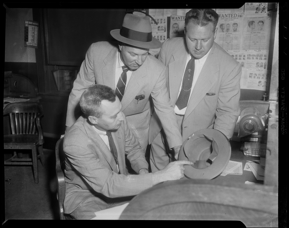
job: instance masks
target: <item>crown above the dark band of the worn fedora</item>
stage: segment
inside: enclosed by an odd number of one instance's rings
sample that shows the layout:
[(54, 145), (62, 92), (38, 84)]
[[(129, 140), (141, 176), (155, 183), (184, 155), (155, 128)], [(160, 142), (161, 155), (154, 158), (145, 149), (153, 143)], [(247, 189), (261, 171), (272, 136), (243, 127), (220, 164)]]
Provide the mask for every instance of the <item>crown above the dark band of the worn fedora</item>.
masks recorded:
[(123, 27), (145, 33), (152, 31), (149, 16), (140, 17), (134, 14), (125, 14)]

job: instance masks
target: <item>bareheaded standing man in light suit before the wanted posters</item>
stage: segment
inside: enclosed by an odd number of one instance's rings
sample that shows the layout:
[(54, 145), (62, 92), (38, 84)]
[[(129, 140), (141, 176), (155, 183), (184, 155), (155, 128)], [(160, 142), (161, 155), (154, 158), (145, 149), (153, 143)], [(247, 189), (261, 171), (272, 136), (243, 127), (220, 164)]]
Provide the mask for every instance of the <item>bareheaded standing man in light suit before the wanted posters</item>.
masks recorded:
[[(183, 141), (204, 128), (233, 136), (240, 114), (241, 65), (214, 42), (218, 14), (211, 9), (186, 13), (185, 38), (166, 40), (158, 59), (167, 67), (168, 89)], [(151, 170), (160, 170), (178, 154), (166, 146), (155, 113), (150, 122)]]

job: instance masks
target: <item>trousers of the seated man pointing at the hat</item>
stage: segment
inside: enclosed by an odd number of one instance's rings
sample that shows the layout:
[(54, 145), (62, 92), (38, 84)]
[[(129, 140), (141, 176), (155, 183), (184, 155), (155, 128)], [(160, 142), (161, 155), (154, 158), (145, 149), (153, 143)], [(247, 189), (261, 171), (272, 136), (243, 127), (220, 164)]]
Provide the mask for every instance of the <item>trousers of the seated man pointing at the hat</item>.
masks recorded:
[(79, 204), (78, 207), (75, 208), (75, 210), (70, 214), (70, 216), (74, 219), (91, 219), (95, 217), (94, 212), (123, 205), (131, 201), (133, 197), (134, 196), (128, 196), (114, 199), (105, 197), (107, 199), (107, 205), (106, 207), (100, 207), (97, 205), (97, 201), (95, 201), (95, 199), (98, 197), (92, 196)]

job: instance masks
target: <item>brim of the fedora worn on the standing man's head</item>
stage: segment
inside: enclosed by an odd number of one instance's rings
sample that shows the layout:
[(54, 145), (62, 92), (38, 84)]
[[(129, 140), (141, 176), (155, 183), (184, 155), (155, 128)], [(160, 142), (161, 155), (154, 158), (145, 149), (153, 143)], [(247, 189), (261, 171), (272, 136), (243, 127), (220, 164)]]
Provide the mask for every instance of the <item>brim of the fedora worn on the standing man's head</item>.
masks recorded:
[(152, 37), (152, 40), (150, 42), (141, 42), (141, 41), (137, 41), (137, 40), (131, 40), (129, 38), (126, 38), (124, 36), (120, 35), (120, 29), (114, 29), (110, 31), (110, 35), (112, 35), (112, 37), (120, 42), (123, 42), (125, 44), (129, 44), (132, 46), (136, 46), (136, 47), (140, 47), (140, 48), (160, 48), (162, 46), (162, 43)]

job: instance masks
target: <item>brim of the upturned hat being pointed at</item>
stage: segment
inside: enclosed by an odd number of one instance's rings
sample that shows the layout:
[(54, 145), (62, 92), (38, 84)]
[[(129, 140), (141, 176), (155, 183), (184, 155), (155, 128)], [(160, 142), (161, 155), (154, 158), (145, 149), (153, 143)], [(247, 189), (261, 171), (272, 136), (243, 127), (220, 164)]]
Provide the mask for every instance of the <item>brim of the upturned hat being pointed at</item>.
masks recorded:
[(195, 153), (196, 151), (194, 150), (185, 151), (184, 147), (187, 143), (188, 144), (186, 145), (186, 147), (190, 146), (190, 143), (200, 138), (200, 135), (204, 135), (207, 136), (208, 138), (214, 139), (216, 145), (218, 146), (218, 155), (216, 156), (214, 162), (204, 169), (196, 169), (193, 166), (188, 165), (184, 166), (185, 167), (184, 175), (189, 179), (210, 180), (221, 174), (222, 171), (226, 168), (227, 164), (229, 163), (229, 160), (231, 158), (231, 144), (227, 139), (227, 137), (222, 132), (209, 128), (202, 129), (194, 132), (188, 137), (188, 139), (184, 141), (179, 153), (178, 160), (187, 160), (187, 161), (189, 160), (187, 156), (188, 153)]

